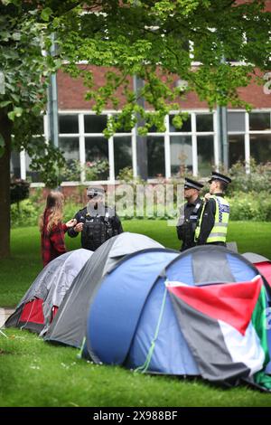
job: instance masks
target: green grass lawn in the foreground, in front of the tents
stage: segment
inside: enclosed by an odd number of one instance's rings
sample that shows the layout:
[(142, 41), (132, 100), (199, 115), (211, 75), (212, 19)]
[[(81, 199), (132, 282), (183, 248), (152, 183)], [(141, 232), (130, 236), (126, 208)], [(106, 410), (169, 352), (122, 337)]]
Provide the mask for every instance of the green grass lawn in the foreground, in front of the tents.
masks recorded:
[(270, 406), (271, 395), (87, 363), (27, 331), (0, 336), (0, 406)]

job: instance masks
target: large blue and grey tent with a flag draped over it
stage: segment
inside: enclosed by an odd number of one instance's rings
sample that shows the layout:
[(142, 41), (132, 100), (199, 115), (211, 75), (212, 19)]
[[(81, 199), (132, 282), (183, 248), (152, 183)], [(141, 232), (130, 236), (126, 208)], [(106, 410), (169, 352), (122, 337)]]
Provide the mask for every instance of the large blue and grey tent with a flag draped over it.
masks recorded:
[(224, 247), (137, 251), (101, 280), (82, 354), (143, 373), (269, 391), (268, 292), (254, 265)]

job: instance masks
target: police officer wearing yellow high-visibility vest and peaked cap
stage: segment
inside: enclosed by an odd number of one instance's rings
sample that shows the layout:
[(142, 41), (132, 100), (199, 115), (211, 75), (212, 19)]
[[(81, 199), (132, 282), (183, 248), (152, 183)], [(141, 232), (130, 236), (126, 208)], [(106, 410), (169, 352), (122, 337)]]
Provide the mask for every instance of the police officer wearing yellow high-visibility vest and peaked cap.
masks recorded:
[(226, 246), (229, 203), (224, 198), (224, 193), (231, 179), (227, 175), (212, 172), (209, 183), (210, 194), (205, 195), (205, 205), (195, 231), (195, 241), (197, 245)]

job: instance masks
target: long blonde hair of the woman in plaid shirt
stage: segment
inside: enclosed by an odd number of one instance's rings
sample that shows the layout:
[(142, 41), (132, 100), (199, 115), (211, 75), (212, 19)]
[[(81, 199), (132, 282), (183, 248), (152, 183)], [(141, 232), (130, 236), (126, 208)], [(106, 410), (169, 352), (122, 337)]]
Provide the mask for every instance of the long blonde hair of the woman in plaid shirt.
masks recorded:
[(46, 199), (45, 210), (39, 219), (40, 231), (43, 231), (46, 211), (49, 211), (50, 213), (48, 216), (47, 228), (44, 229), (45, 231), (49, 233), (53, 226), (61, 222), (63, 217), (63, 204), (64, 204), (64, 196), (63, 194), (61, 194), (61, 192), (51, 191), (50, 194), (48, 194)]

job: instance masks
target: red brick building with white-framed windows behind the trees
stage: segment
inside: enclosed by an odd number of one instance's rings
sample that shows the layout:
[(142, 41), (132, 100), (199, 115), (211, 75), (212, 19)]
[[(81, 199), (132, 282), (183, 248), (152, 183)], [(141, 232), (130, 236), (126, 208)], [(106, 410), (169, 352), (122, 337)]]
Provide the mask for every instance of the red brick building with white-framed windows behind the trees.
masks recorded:
[[(271, 10), (271, 2), (268, 2)], [(194, 66), (199, 66), (198, 62)], [(233, 63), (234, 66), (234, 63)], [(95, 80), (102, 80), (105, 69), (93, 68)], [(136, 175), (135, 129), (129, 133), (118, 132), (108, 140), (103, 135), (107, 116), (116, 114), (111, 105), (102, 115), (91, 111), (91, 102), (84, 99), (85, 91), (81, 80), (71, 79), (60, 71), (58, 81), (59, 143), (67, 159), (78, 159), (81, 164), (97, 158), (106, 159), (109, 169), (103, 182), (114, 183), (119, 171), (131, 166)], [(131, 87), (133, 81), (131, 79)], [(253, 105), (248, 113), (244, 109), (228, 109), (229, 166), (238, 160), (248, 161), (251, 156), (257, 163), (271, 161), (271, 72), (266, 73), (266, 85), (255, 83), (239, 90), (242, 99)], [(121, 94), (119, 93), (119, 98)], [(120, 102), (121, 103), (121, 102)], [(170, 178), (178, 175), (180, 167), (193, 175), (210, 175), (210, 169), (218, 167), (220, 145), (217, 111), (210, 111), (195, 93), (189, 93), (180, 101), (180, 109), (189, 113), (181, 130), (173, 127), (173, 116), (165, 119), (166, 131), (150, 132), (146, 137), (149, 179), (157, 175)], [(46, 136), (47, 120), (44, 118), (43, 132)], [(13, 154), (14, 174), (29, 176), (33, 184), (40, 183), (39, 176), (29, 168), (30, 159), (24, 153)]]

